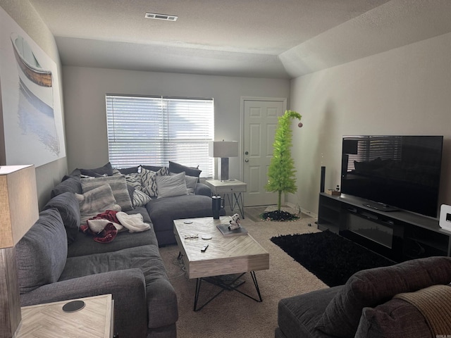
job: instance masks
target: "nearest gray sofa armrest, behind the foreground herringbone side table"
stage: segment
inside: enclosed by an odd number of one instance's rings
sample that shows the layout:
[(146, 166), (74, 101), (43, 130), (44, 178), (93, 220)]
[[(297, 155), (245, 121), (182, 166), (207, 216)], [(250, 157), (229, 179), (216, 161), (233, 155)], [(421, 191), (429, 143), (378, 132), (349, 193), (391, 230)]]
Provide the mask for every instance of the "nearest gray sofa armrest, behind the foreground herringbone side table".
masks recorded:
[(114, 300), (114, 332), (119, 337), (147, 336), (147, 301), (140, 269), (97, 273), (45, 284), (20, 295), (20, 305), (34, 305), (111, 294)]

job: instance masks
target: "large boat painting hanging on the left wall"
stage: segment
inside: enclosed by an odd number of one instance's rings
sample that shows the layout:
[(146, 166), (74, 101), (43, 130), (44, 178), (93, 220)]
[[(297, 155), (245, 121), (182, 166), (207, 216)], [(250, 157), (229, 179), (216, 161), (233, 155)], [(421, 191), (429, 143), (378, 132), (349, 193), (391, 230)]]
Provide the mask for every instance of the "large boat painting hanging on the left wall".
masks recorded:
[(0, 164), (38, 167), (65, 157), (56, 63), (1, 7), (0, 87), (6, 155)]

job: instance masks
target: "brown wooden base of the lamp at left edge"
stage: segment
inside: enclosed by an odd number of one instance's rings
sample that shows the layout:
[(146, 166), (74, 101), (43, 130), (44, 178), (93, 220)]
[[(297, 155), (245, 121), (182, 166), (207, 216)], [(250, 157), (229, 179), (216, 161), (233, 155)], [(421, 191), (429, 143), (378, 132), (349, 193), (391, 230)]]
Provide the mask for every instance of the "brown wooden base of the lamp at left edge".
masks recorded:
[(22, 320), (16, 249), (0, 249), (0, 337), (15, 337)]

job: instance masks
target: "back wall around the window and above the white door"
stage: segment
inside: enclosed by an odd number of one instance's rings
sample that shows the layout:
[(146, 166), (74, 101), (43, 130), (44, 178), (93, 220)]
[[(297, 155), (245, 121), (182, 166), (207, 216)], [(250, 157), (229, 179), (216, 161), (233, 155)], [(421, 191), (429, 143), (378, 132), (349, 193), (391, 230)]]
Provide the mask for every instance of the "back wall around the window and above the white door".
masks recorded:
[[(289, 80), (80, 67), (63, 67), (63, 87), (69, 171), (109, 161), (106, 93), (213, 97), (215, 138), (229, 141), (240, 140), (241, 96), (288, 98), (290, 94)], [(239, 161), (230, 158), (230, 177), (241, 176)]]

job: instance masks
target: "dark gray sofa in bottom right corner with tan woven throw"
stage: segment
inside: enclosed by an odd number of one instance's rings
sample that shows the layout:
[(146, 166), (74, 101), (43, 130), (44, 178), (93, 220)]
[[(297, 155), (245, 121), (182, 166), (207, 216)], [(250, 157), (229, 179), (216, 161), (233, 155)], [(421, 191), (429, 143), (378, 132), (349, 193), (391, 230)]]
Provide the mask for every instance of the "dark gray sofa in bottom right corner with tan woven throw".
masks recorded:
[(450, 282), (449, 257), (362, 270), (345, 285), (281, 299), (275, 337), (447, 337)]

